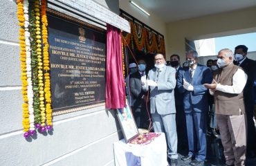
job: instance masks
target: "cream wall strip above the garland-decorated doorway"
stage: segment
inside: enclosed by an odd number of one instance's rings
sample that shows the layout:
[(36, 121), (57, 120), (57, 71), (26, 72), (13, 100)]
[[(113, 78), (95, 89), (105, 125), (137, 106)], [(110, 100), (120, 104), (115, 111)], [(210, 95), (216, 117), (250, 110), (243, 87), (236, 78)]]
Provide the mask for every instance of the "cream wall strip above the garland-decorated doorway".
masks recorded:
[[(168, 41), (167, 41), (166, 24), (160, 17), (154, 15), (154, 13), (145, 9), (147, 12), (149, 12), (150, 16), (146, 15), (144, 12), (140, 11), (134, 5), (129, 3), (129, 0), (119, 0), (119, 7), (120, 7), (120, 9), (129, 13), (129, 15), (132, 15), (133, 17), (142, 21), (144, 24), (146, 24), (150, 28), (153, 28), (158, 33), (161, 33), (162, 35), (164, 35), (164, 37), (165, 37), (165, 48), (167, 48)], [(167, 55), (167, 57), (170, 56), (167, 49), (166, 49), (166, 55)]]

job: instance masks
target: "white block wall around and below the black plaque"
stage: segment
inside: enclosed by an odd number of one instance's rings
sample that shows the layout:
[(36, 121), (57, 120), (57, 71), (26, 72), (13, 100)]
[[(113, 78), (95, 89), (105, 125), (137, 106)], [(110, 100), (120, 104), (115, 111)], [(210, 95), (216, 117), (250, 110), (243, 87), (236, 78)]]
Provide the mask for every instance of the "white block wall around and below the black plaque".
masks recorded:
[(114, 165), (113, 142), (122, 136), (104, 106), (54, 116), (53, 131), (23, 137), (17, 5), (0, 6), (0, 165)]

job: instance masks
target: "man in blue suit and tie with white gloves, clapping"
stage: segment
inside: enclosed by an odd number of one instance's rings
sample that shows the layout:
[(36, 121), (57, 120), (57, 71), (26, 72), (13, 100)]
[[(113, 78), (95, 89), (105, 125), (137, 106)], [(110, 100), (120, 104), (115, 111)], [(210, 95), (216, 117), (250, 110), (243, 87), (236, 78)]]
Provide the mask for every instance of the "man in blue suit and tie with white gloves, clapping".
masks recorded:
[[(186, 55), (189, 68), (179, 72), (177, 86), (184, 93), (183, 105), (188, 133), (188, 156), (190, 165), (203, 165), (206, 157), (206, 113), (208, 111), (208, 89), (203, 84), (212, 83), (210, 68), (198, 64), (198, 54), (189, 50)], [(194, 160), (193, 160), (194, 159)]]

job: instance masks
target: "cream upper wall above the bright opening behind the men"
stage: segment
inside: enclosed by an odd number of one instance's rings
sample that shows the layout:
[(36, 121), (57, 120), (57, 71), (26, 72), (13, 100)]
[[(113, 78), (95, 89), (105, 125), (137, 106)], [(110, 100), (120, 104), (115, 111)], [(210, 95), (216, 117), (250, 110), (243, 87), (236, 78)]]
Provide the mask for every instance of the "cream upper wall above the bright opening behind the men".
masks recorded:
[(167, 24), (168, 53), (181, 55), (185, 60), (185, 38), (207, 39), (226, 35), (256, 32), (256, 8), (219, 13)]

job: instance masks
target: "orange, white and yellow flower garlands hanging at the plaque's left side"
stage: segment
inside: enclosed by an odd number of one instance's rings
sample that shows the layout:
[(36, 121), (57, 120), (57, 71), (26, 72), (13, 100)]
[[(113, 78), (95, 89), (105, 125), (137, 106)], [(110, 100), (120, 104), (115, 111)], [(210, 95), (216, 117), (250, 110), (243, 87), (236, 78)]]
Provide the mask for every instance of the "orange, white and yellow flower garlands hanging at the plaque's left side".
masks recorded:
[(51, 130), (52, 109), (46, 0), (17, 0), (24, 137)]

